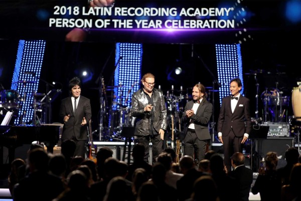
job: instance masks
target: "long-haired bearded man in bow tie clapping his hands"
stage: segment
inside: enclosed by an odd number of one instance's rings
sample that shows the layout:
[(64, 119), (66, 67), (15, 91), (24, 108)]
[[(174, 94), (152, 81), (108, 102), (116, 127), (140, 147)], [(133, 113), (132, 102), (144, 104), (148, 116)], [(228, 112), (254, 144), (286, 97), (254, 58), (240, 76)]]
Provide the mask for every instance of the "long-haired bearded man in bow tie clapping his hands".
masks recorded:
[(208, 123), (212, 116), (212, 104), (208, 102), (205, 86), (196, 84), (192, 89), (193, 100), (187, 102), (182, 121), (184, 130), (184, 155), (189, 155), (198, 163), (205, 158), (210, 142)]

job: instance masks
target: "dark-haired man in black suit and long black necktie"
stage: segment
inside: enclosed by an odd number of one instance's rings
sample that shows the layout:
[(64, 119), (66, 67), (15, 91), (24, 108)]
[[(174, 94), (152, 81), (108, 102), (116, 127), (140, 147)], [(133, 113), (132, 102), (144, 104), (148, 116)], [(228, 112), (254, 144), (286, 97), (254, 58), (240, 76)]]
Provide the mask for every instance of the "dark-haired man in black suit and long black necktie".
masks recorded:
[(60, 107), (60, 119), (64, 121), (62, 141), (72, 139), (76, 149), (74, 156), (85, 158), (85, 146), (88, 140), (87, 122), (91, 119), (90, 99), (80, 95), (81, 82), (78, 77), (69, 81), (71, 97), (64, 98)]

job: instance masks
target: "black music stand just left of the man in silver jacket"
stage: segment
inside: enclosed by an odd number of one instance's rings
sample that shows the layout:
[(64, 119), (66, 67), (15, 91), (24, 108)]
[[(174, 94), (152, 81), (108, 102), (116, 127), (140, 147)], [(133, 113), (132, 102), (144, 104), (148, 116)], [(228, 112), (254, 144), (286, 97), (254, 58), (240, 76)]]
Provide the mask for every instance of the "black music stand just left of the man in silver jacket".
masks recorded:
[[(135, 127), (122, 127), (120, 136), (125, 137), (124, 145), (123, 145), (123, 154), (122, 160), (125, 162), (127, 159), (127, 164), (130, 164), (130, 153), (131, 153), (131, 138), (134, 137)], [(127, 145), (128, 144), (128, 145)], [(126, 150), (127, 146), (127, 150)], [(125, 158), (125, 154), (127, 153), (127, 157)]]

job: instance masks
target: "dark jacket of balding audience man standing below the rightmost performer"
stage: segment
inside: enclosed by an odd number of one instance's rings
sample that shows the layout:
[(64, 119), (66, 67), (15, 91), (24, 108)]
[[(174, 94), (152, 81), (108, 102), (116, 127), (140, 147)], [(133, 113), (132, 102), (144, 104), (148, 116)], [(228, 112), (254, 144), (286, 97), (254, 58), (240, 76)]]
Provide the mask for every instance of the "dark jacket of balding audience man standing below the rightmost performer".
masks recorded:
[(251, 184), (253, 182), (253, 171), (242, 165), (237, 167), (234, 171), (230, 171), (228, 175), (234, 177), (236, 182), (238, 182), (239, 200), (248, 201)]

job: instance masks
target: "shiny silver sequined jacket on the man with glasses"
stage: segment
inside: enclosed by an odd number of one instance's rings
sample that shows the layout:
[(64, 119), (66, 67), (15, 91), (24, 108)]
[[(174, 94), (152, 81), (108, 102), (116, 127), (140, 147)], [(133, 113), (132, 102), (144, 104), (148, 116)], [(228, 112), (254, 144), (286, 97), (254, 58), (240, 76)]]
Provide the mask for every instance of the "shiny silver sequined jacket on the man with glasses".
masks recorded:
[[(167, 128), (167, 110), (162, 90), (153, 89), (154, 96), (154, 128), (159, 133), (160, 129)], [(131, 115), (135, 118), (135, 135), (149, 135), (150, 115), (144, 112), (144, 107), (148, 104), (146, 94), (143, 89), (139, 89), (132, 94), (131, 98)]]

